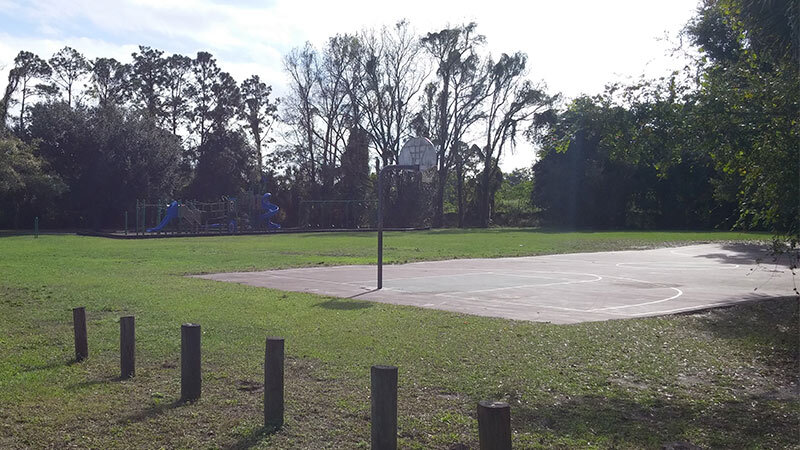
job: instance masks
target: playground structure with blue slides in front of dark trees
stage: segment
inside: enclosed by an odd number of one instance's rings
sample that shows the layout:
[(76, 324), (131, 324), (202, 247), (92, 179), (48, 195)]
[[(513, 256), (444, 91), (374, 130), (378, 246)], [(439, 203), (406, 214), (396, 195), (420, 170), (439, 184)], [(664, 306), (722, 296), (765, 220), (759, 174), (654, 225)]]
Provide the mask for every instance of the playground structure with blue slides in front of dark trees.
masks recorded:
[[(166, 203), (136, 202), (136, 234), (145, 233), (237, 233), (280, 225), (269, 220), (278, 206), (270, 194), (223, 197), (218, 202), (174, 200)], [(152, 226), (148, 226), (153, 224)]]

